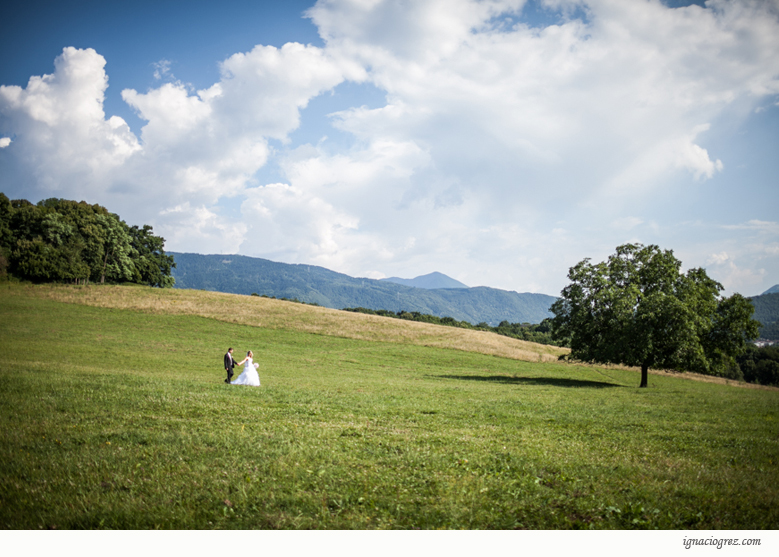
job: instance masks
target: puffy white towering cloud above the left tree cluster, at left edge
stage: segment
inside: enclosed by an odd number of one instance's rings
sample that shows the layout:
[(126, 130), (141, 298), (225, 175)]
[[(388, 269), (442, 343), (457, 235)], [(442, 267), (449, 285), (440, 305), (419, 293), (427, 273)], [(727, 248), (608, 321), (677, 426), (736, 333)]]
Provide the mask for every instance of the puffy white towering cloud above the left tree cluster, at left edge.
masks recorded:
[(7, 145), (6, 176), (38, 195), (85, 184), (81, 195), (104, 187), (110, 174), (140, 150), (118, 116), (105, 117), (105, 58), (92, 49), (65, 48), (55, 72), (33, 76), (27, 87), (0, 86)]

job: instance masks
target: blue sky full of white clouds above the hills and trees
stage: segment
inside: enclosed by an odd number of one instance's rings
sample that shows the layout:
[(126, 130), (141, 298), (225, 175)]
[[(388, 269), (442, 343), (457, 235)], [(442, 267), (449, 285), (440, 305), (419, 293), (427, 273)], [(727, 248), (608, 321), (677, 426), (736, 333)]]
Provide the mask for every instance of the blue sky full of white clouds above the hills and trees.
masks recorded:
[(558, 295), (628, 242), (779, 283), (779, 0), (0, 8), (0, 192), (168, 251)]

